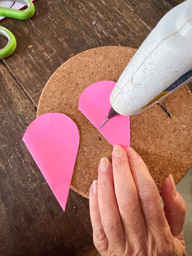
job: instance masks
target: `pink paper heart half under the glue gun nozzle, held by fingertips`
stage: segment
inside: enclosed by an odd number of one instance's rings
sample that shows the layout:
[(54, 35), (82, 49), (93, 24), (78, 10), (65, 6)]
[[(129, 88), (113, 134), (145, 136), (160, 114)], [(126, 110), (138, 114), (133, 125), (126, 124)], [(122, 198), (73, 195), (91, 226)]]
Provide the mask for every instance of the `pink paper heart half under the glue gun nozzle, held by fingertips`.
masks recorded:
[[(97, 129), (108, 116), (109, 98), (115, 84), (113, 81), (91, 84), (79, 97), (79, 110)], [(118, 144), (124, 149), (130, 146), (130, 116), (115, 116), (99, 131), (113, 146)]]

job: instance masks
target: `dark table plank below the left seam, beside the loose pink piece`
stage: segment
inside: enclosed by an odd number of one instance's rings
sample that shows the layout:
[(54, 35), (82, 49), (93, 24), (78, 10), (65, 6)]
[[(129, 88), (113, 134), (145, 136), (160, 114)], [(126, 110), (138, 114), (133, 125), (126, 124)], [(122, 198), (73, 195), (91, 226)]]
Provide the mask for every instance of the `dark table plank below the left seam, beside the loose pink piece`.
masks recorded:
[(0, 255), (76, 255), (92, 244), (88, 200), (63, 212), (22, 142), (36, 113), (0, 63)]

